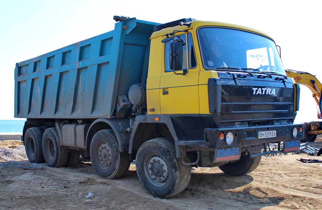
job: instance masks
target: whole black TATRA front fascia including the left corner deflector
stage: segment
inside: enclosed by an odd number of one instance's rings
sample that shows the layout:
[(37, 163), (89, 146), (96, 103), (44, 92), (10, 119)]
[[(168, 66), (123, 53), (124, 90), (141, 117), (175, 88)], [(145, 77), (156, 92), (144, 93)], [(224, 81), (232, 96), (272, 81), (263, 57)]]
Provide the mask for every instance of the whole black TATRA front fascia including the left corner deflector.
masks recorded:
[(293, 121), (294, 96), (291, 80), (287, 87), (282, 82), (258, 81), (256, 77), (239, 78), (238, 84), (230, 78), (208, 80), (209, 112), (220, 113), (219, 126)]

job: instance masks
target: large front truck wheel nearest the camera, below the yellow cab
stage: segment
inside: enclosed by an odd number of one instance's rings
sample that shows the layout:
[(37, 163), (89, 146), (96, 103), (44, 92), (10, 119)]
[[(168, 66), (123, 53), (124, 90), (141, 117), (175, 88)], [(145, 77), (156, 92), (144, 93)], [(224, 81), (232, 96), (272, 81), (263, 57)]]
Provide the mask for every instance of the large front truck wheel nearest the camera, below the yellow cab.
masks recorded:
[(176, 157), (174, 140), (155, 138), (141, 145), (136, 157), (137, 176), (152, 195), (168, 198), (189, 184), (191, 167)]

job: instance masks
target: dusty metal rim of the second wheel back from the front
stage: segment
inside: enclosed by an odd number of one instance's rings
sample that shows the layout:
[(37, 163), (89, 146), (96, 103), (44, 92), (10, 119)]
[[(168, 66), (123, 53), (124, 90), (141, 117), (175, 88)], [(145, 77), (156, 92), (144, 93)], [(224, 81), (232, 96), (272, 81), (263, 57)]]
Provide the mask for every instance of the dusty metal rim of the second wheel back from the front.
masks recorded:
[(95, 148), (95, 158), (101, 169), (108, 169), (113, 161), (112, 150), (108, 143), (100, 141)]

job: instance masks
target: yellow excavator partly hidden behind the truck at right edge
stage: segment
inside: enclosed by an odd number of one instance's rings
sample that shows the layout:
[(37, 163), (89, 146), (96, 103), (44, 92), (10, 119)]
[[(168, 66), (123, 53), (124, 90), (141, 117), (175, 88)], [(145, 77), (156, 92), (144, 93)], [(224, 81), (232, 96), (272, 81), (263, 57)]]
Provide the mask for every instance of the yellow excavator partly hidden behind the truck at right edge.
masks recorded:
[[(314, 75), (308, 72), (297, 72), (297, 71), (287, 69), (286, 74), (288, 77), (292, 77), (296, 83), (305, 85), (312, 91), (313, 93), (312, 96), (318, 106), (317, 118), (322, 119), (322, 116), (321, 116), (322, 100), (320, 100), (321, 90), (322, 90), (321, 82)], [(304, 138), (302, 139), (302, 141), (304, 142), (315, 141), (315, 139), (317, 138), (317, 135), (322, 134), (322, 127), (321, 127), (322, 122), (313, 121), (313, 122), (305, 122), (304, 124), (305, 124), (303, 127)]]

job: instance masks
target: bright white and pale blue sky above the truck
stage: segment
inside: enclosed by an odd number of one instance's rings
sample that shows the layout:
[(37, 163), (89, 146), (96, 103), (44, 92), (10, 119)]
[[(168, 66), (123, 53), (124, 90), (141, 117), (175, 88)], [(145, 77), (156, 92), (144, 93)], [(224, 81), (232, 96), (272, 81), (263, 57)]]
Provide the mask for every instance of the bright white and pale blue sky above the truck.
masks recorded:
[[(256, 28), (281, 46), (285, 69), (309, 72), (322, 81), (320, 1), (103, 1), (11, 0), (0, 2), (0, 119), (14, 119), (16, 62), (114, 29), (114, 15), (166, 23), (181, 18)], [(301, 85), (296, 121), (318, 120), (308, 88)]]

